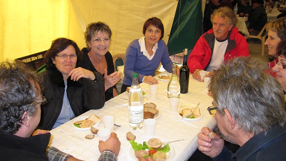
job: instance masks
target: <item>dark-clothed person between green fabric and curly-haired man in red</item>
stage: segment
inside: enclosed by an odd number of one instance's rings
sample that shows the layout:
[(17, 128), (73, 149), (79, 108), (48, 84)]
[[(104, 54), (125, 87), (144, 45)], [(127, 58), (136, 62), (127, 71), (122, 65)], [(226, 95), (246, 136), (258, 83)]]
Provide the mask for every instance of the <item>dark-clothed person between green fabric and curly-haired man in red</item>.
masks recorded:
[(214, 12), (215, 9), (218, 8), (217, 3), (218, 0), (210, 0), (209, 3), (206, 4), (203, 23), (204, 32), (207, 32), (213, 27), (213, 24), (211, 22), (211, 14)]

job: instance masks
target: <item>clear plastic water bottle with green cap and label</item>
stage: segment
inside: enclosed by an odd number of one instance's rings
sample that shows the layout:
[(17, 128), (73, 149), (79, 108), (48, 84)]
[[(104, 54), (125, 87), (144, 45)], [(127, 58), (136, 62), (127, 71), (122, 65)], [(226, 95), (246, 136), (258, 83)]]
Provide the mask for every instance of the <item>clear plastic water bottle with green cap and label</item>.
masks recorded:
[(144, 116), (143, 116), (143, 94), (138, 82), (138, 74), (136, 72), (132, 73), (132, 84), (129, 90), (128, 97), (128, 109), (129, 109), (129, 125), (134, 130), (137, 128), (142, 128)]

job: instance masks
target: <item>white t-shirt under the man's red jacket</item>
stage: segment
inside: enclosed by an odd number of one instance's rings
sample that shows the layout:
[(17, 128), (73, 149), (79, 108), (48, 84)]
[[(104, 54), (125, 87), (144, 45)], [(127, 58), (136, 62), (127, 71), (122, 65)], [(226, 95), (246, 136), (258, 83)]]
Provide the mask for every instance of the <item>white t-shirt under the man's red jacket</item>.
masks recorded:
[(224, 54), (227, 44), (228, 44), (227, 39), (224, 41), (218, 41), (217, 39), (215, 39), (213, 55), (211, 62), (207, 68), (207, 71), (217, 70), (221, 66), (224, 60)]

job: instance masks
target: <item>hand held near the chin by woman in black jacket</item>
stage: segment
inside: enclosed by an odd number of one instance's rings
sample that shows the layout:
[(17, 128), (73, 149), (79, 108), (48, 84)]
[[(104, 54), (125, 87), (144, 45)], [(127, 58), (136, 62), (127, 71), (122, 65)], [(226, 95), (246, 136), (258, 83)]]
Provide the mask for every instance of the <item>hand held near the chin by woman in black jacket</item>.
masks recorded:
[(95, 79), (95, 75), (92, 71), (87, 70), (87, 69), (82, 68), (82, 67), (77, 67), (77, 68), (72, 69), (69, 72), (69, 76), (71, 76), (71, 79), (74, 81), (77, 81), (81, 77), (91, 79), (91, 80)]

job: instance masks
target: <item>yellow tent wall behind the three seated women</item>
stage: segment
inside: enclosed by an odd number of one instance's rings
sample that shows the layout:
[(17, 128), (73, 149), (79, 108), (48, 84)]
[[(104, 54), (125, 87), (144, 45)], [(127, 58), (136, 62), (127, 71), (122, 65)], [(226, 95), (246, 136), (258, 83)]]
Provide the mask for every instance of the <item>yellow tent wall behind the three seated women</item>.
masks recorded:
[(46, 50), (52, 40), (67, 37), (85, 47), (84, 31), (94, 21), (111, 30), (111, 54), (125, 53), (143, 35), (146, 19), (157, 16), (167, 43), (177, 0), (0, 0), (0, 61)]

